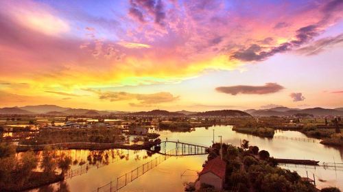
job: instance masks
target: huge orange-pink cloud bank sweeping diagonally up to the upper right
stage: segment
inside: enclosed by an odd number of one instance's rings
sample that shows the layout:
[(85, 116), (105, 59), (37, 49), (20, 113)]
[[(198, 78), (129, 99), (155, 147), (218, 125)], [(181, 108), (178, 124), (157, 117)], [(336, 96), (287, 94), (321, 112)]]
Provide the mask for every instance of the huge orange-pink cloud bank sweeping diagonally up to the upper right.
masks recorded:
[(135, 8), (145, 22), (1, 1), (0, 81), (27, 82), (31, 93), (16, 91), (32, 95), (180, 82), (298, 49), (337, 23), (343, 10), (333, 1), (296, 9), (287, 3), (265, 9), (263, 3), (238, 1), (232, 10), (224, 1), (132, 2), (123, 12), (132, 14)]

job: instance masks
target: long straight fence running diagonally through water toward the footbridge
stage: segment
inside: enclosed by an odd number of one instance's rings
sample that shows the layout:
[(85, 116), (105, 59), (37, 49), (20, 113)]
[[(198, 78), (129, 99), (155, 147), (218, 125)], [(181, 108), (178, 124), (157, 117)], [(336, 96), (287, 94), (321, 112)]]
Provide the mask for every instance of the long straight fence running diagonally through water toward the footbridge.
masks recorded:
[(157, 167), (157, 165), (160, 165), (163, 161), (170, 158), (172, 154), (176, 154), (175, 149), (171, 149), (169, 152), (167, 152), (167, 154), (169, 155), (157, 156), (156, 158), (137, 167), (136, 169), (132, 169), (132, 171), (129, 171), (128, 173), (125, 173), (122, 176), (117, 177), (117, 180), (111, 180), (107, 184), (104, 184), (102, 187), (98, 187), (95, 191), (119, 191), (119, 189), (126, 187), (126, 185), (128, 185), (130, 182), (136, 180), (140, 176), (143, 176), (143, 174), (149, 171), (150, 169), (153, 169), (154, 167)]

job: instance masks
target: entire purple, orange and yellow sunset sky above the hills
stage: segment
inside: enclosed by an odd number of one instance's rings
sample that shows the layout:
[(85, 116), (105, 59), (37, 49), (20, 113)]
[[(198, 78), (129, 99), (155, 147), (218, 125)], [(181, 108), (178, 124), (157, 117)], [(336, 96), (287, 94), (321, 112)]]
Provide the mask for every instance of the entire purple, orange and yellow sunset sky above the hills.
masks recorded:
[(343, 0), (0, 1), (0, 107), (343, 107)]

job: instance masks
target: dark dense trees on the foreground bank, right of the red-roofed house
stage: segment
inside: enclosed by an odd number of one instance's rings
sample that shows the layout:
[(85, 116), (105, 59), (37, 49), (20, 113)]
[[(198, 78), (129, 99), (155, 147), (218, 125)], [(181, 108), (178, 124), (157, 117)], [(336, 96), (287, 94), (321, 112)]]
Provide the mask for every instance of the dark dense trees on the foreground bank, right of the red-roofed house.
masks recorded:
[[(274, 158), (257, 146), (248, 147), (248, 141), (242, 147), (223, 144), (223, 160), (226, 162), (226, 189), (228, 191), (317, 191), (314, 184), (302, 179), (296, 171), (278, 167)], [(244, 150), (247, 149), (248, 150)], [(257, 155), (258, 154), (258, 155)], [(220, 143), (213, 144), (209, 160), (220, 155)], [(209, 186), (201, 190), (213, 189)], [(322, 189), (338, 190), (337, 188)], [(339, 190), (338, 190), (339, 191)]]

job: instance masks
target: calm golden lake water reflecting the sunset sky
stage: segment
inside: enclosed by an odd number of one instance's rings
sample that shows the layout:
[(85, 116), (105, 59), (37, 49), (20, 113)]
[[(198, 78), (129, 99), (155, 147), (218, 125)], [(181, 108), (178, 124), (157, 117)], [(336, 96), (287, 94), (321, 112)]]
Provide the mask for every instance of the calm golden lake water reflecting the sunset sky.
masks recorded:
[[(220, 142), (220, 137), (218, 136), (222, 136), (223, 143), (233, 143), (233, 145), (239, 145), (241, 140), (246, 139), (250, 141), (250, 145), (257, 145), (260, 150), (268, 150), (270, 155), (275, 158), (320, 160), (320, 163), (334, 161), (335, 163), (343, 163), (342, 148), (326, 147), (320, 143), (304, 141), (264, 139), (258, 136), (237, 133), (232, 130), (232, 126), (230, 125), (196, 128), (192, 132), (161, 131), (158, 133), (161, 134), (161, 140), (168, 139), (168, 141), (182, 141), (209, 146), (213, 140), (213, 129), (215, 130), (215, 142)], [(305, 134), (294, 131), (278, 130), (275, 135), (307, 139)], [(167, 147), (171, 149), (175, 146), (168, 145)], [(70, 191), (96, 191), (97, 187), (101, 187), (111, 180), (115, 182), (118, 176), (161, 156), (160, 154), (152, 154), (149, 156), (144, 150), (132, 151), (124, 149), (113, 149), (102, 152), (69, 150), (68, 153), (71, 154), (73, 160), (77, 159), (78, 162), (80, 160), (88, 162), (87, 156), (89, 154), (92, 154), (93, 157), (97, 157), (99, 153), (102, 153), (103, 157), (106, 156), (106, 153), (108, 154), (108, 165), (103, 165), (102, 163), (88, 165), (89, 169), (86, 173), (65, 180)], [(126, 187), (123, 187), (120, 191), (183, 191), (184, 182), (193, 182), (196, 180), (196, 171), (202, 170), (202, 164), (206, 160), (206, 157), (207, 155), (168, 158), (154, 169), (147, 171), (143, 176), (137, 178)], [(82, 167), (85, 166), (83, 165)], [(72, 169), (78, 169), (78, 167), (80, 166), (73, 165)], [(314, 167), (308, 166), (289, 167), (288, 169), (296, 170), (304, 177), (308, 174), (310, 178), (313, 178), (314, 175), (316, 177), (317, 187), (319, 188), (330, 185), (339, 187), (341, 190), (343, 189), (343, 171), (324, 170), (322, 167), (316, 167), (314, 169)], [(58, 189), (59, 184), (53, 184), (51, 187)], [(42, 190), (44, 191), (44, 189)]]

